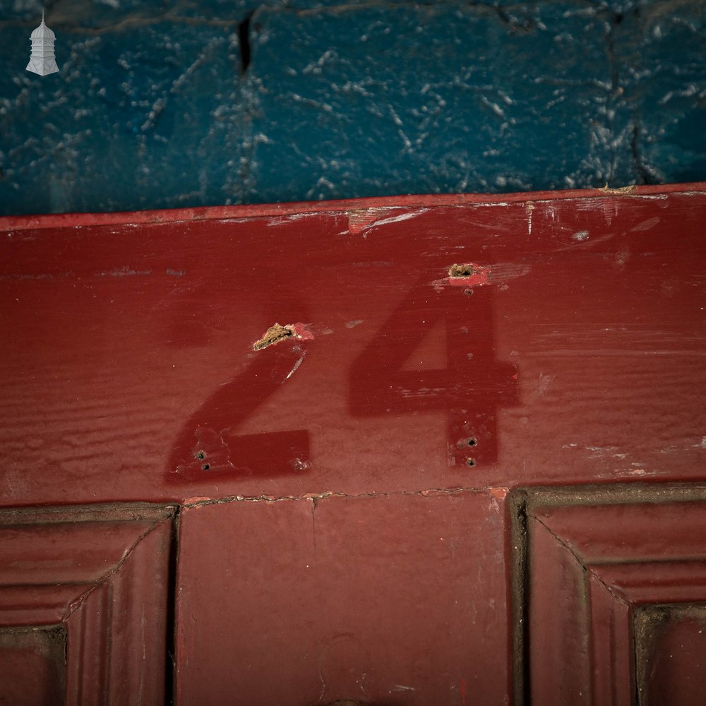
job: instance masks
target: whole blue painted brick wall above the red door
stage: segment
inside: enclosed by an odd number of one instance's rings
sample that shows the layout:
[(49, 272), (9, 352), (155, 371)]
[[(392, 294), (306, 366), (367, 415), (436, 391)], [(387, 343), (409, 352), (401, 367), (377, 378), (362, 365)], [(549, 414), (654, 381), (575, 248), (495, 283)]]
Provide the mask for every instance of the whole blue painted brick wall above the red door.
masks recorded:
[[(706, 179), (702, 0), (0, 0), (0, 213)], [(245, 70), (244, 70), (245, 69)]]

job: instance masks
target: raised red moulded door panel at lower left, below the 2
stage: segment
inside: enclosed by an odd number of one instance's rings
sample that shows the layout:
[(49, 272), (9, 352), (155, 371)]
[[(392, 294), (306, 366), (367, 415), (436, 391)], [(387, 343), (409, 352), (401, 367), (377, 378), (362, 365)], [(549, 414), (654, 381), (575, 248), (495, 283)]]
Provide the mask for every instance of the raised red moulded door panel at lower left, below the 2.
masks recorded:
[(161, 705), (174, 507), (0, 510), (0, 695)]

